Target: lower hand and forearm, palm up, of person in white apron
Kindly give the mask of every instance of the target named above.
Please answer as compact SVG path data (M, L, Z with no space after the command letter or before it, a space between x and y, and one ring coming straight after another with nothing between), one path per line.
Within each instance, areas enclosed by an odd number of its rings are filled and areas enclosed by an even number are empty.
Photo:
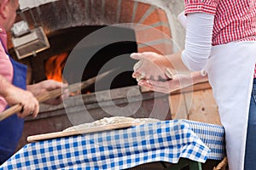
M149 90L170 94L181 88L189 87L195 83L207 82L207 75L202 76L201 72L192 72L191 74L179 74L172 77L169 81L154 81L142 79L138 85L148 88Z

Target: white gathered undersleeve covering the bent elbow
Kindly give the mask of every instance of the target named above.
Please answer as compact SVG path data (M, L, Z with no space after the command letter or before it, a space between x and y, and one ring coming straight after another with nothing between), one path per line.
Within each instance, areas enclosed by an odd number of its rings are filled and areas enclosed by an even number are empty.
M182 60L190 71L201 71L207 64L212 48L213 21L212 14L187 15L186 43Z

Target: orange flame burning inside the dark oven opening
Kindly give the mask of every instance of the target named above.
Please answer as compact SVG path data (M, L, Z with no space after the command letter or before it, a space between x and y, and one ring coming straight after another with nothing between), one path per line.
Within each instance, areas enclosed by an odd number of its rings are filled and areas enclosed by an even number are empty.
M68 53L57 54L45 61L44 71L47 79L63 82L62 71L66 64L67 55Z

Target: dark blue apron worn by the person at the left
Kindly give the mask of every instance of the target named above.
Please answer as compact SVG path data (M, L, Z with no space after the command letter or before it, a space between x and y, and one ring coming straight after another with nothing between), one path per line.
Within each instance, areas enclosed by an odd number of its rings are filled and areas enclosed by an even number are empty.
M8 54L7 50L5 51ZM26 89L26 65L16 62L11 57L9 59L14 67L13 84L16 87ZM19 118L16 114L0 122L0 165L15 153L23 125L24 119Z

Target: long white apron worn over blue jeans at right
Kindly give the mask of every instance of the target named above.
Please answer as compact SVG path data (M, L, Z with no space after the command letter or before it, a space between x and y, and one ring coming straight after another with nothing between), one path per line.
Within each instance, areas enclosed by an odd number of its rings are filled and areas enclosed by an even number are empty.
M230 170L244 165L247 119L256 63L256 42L230 42L212 47L207 74L225 129Z

